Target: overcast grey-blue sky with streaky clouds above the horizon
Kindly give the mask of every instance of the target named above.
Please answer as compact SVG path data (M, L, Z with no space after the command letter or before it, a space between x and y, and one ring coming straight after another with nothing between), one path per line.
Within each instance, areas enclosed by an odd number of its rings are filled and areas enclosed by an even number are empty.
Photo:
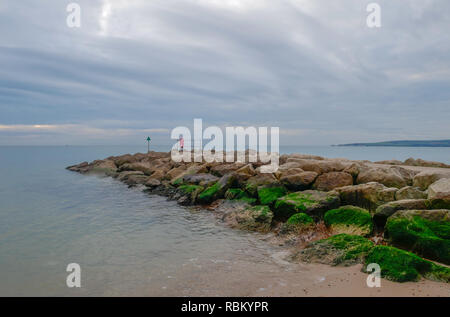
M280 144L450 138L450 2L0 1L0 145L173 143L177 126Z

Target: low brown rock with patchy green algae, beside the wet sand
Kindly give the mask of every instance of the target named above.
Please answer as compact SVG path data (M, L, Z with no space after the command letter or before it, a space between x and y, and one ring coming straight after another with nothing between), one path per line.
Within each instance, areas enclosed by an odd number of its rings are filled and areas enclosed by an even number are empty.
M298 257L305 262L348 266L362 263L373 246L364 237L342 233L310 243Z

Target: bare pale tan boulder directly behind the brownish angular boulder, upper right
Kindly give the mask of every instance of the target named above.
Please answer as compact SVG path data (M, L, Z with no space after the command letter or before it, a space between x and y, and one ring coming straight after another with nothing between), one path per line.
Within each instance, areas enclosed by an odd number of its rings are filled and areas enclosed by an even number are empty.
M372 167L361 171L356 178L357 184L377 182L387 187L402 188L410 185L412 176L407 170L398 166Z

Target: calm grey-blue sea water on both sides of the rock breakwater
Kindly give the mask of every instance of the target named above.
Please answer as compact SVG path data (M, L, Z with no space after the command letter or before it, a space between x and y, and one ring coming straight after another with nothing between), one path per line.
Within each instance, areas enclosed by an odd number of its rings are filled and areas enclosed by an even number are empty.
M180 272L193 272L186 267L198 272L205 263L265 261L277 251L256 234L224 227L207 212L64 169L143 150L0 147L1 296L145 295L148 289L163 290L169 280L173 285ZM282 152L450 163L449 148L285 147ZM80 289L66 287L66 266L73 262L82 269ZM188 295L184 287L180 294Z

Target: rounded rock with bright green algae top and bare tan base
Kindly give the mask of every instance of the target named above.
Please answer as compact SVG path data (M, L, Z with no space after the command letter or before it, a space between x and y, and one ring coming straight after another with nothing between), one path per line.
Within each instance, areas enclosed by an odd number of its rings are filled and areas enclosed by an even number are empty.
M343 206L325 213L324 222L333 233L347 233L368 236L372 233L373 222L370 213L363 208Z

